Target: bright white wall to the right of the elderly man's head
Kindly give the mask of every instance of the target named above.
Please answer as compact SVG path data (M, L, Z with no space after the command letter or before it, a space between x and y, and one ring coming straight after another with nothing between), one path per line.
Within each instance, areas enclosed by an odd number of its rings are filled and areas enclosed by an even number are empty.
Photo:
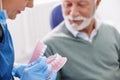
M120 0L101 0L98 14L102 20L113 24L120 31Z

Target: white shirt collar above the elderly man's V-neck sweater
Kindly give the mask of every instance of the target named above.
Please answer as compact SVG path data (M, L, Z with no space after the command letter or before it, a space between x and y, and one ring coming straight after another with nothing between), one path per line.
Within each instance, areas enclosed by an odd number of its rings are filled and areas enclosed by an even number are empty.
M73 34L74 37L79 37L86 41L92 42L94 36L97 34L100 24L101 24L101 21L95 18L95 29L92 31L90 37L85 32L78 32L77 30L74 30L70 26L66 26L66 28Z

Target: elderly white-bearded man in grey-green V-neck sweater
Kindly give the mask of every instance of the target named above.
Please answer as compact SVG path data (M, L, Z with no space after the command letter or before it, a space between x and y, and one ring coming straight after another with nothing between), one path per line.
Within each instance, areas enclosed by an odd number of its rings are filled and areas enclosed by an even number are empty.
M43 39L47 56L68 58L57 80L120 80L120 35L95 17L101 0L61 2L64 21Z

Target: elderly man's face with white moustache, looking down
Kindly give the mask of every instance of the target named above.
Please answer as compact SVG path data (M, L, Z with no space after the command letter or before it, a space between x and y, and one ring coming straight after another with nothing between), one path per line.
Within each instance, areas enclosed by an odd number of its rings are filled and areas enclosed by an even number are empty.
M63 16L72 25L81 25L90 23L96 9L95 0L62 0ZM88 26L85 25L85 26Z

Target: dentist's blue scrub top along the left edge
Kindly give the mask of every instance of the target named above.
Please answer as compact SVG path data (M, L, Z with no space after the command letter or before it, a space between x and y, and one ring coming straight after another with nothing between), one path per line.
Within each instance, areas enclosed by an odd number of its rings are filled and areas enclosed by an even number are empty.
M0 80L12 80L14 48L7 28L6 17L2 11L0 11L0 24L4 32L3 40L0 43Z

